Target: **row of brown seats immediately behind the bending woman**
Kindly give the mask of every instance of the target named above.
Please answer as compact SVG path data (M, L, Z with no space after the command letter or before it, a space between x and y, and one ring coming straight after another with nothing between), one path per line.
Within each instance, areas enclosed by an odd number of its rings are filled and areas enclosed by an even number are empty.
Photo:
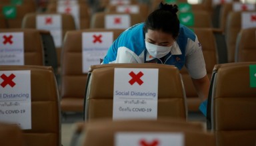
M249 29L251 30L251 29ZM238 43L240 47L239 56L241 56L239 61L254 61L253 52L255 52L255 43L247 43L247 39L244 35L255 41L254 31L242 31L243 35L241 38L241 43ZM207 65L207 74L211 78L211 70L215 64L223 63L219 60L219 52L221 50L221 42L217 42L217 33L213 29L194 29L197 34L201 45L203 46L203 54L205 57L205 62ZM46 65L53 66L55 73L57 74L57 60L56 52L53 43L53 38L49 34L49 31L36 31L35 29L15 29L15 30L1 30L2 33L7 32L24 32L25 33L25 65ZM99 33L99 32L113 32L113 40L119 36L123 30L114 29L87 29L84 31L68 31L65 36L65 41L63 48L57 48L59 50L59 58L61 58L61 70L59 70L60 75L57 76L60 88L61 96L61 107L63 112L65 111L83 111L83 98L85 96L85 82L87 80L87 73L83 72L83 56L82 56L82 34L83 33ZM247 32L247 33L245 33ZM208 37L205 37L208 36ZM43 38L43 39L42 39ZM35 43L31 43L35 42ZM43 44L43 45L41 45ZM251 48L245 48L245 44L250 45ZM107 48L107 47L106 47ZM35 53L31 53L31 51ZM43 50L44 49L44 50ZM61 53L62 51L62 53ZM251 57L249 56L251 55ZM244 57L242 57L244 56ZM37 60L35 60L36 58ZM243 59L245 58L245 59ZM44 60L44 62L43 62ZM75 66L73 64L76 64ZM201 99L197 97L197 93L193 88L193 83L191 78L185 68L181 70L181 74L184 80L185 91L187 95L187 103L189 111L198 111ZM61 77L61 79L60 79Z

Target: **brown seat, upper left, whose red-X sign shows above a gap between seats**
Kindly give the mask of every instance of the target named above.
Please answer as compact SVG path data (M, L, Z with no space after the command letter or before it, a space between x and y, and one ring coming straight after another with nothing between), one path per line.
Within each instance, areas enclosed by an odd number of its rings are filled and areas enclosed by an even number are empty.
M71 15L67 14L58 14L58 13L29 13L25 15L23 19L22 28L26 29L37 29L36 19L37 16L48 16L48 15L61 15L61 31L62 31L62 38L63 40L65 33L67 31L73 31L75 30L75 21ZM46 30L51 31L51 30ZM62 46L63 42L61 43ZM58 74L60 74L60 66L61 66L61 46L57 46L55 43L55 48L57 52L57 64L58 64Z

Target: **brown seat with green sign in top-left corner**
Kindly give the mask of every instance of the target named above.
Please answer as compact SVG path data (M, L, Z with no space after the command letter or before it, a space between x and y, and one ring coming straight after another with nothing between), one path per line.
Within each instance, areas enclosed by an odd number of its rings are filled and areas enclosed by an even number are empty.
M7 21L7 28L16 29L21 28L21 23L23 21L23 17L27 13L35 13L35 5L32 3L26 3L23 5L1 5L0 4L0 11L3 12L3 9L9 7L9 10L13 11L13 13L9 13L8 16L5 14L5 20ZM16 13L15 13L16 10ZM12 16L11 16L12 15ZM11 18L9 18L11 17Z

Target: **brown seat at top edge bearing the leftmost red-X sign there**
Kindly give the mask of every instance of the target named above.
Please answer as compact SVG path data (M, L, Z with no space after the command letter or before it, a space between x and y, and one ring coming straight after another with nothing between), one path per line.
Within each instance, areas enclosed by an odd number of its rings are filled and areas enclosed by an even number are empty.
M49 3L49 5L47 6L47 12L61 13L58 11L59 5L61 7L66 7L66 9L67 9L66 13L72 15L72 12L69 12L69 11L71 11L70 9L72 9L71 4L65 5L65 4L58 4L58 3ZM79 1L79 3L77 3L76 5L79 9L79 13L77 13L79 17L77 15L72 15L75 20L75 23L79 23L79 24L76 24L76 29L89 29L91 14L90 14L88 5L85 3L85 1ZM78 18L76 18L76 17L78 17Z

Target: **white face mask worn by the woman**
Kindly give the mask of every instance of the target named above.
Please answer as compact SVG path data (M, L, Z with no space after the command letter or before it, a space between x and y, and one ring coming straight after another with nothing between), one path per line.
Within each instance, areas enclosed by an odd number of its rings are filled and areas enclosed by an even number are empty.
M162 58L171 51L171 46L157 46L145 40L146 48L149 54L155 58Z

